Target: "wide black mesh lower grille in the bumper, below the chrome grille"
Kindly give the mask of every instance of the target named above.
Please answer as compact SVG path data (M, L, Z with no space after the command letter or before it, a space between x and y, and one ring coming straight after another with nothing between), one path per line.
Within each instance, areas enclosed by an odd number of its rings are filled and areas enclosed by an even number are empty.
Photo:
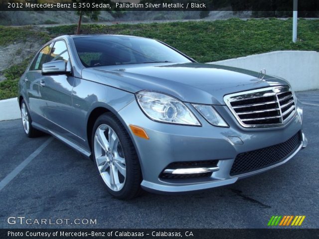
M290 153L294 152L300 145L300 142L301 134L298 132L283 143L240 153L234 160L230 175L244 174L279 163L285 160Z

